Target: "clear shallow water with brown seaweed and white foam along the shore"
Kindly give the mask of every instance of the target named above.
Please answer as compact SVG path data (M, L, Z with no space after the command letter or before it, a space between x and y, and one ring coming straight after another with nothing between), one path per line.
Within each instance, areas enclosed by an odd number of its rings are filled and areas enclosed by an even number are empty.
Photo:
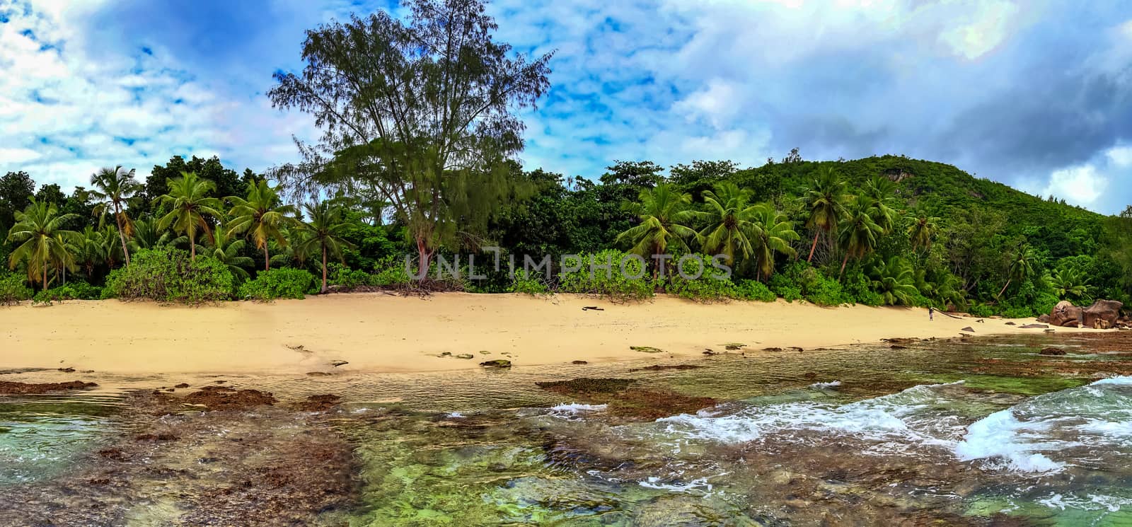
M1037 353L1050 344L1070 353ZM19 496L0 503L12 512L0 520L55 518L53 508L80 499L102 511L97 525L255 525L224 515L241 513L241 500L266 509L264 500L327 485L342 499L305 495L298 502L310 516L292 522L1130 525L1130 344L1123 334L1040 335L512 371L220 379L274 391L280 406L342 396L325 414L155 420L114 390L0 398L0 485ZM641 370L678 363L700 368ZM628 392L569 396L534 385L582 377L633 379L631 390L717 404L642 418L625 405ZM663 406L663 397L649 400ZM147 426L179 439L144 448L121 439ZM125 460L94 453L119 443L128 446ZM352 455L335 457L336 449ZM303 459L315 451L317 460ZM299 481L301 472L284 470L303 463L327 473ZM89 481L109 489L76 484Z

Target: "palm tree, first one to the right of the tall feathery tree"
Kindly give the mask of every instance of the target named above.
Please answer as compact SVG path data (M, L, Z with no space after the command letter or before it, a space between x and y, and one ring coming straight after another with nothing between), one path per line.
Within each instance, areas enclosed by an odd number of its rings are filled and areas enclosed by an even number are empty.
M641 218L641 223L618 234L618 243L632 243L633 249L629 251L645 258L666 253L670 243L677 249L691 251L685 240L698 236L694 230L685 226L694 217L694 213L687 209L692 202L691 195L678 193L671 185L662 183L653 189L642 190L637 199L641 202L632 204L628 208ZM655 266L652 274L655 278Z

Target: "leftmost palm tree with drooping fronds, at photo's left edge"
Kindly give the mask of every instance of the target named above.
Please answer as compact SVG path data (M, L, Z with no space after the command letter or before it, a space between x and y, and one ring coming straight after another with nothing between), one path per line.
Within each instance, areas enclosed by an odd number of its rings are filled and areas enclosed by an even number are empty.
M76 214L60 215L53 204L32 198L24 211L16 213L16 224L8 231L8 242L19 243L8 257L8 267L15 269L17 264L26 261L28 280L41 282L46 291L48 269L74 261L67 245L78 243L82 234L63 230L62 225L76 218Z

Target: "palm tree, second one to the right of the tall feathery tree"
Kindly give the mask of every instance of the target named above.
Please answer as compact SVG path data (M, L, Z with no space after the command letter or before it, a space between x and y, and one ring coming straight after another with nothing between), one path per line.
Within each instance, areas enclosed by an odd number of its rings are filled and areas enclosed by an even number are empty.
M755 213L755 206L748 202L751 192L724 181L715 185L714 192L705 190L703 197L707 210L693 215L707 224L698 234L703 250L726 256L728 265L735 262L736 254L751 258L754 254L751 245L754 225L751 219Z

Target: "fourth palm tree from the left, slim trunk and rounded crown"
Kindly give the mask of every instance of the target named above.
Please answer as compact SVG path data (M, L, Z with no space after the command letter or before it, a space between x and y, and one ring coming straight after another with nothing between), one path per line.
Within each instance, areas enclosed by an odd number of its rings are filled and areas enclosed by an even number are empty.
M280 245L286 245L282 227L293 222L288 215L297 214L294 206L283 205L276 189L267 185L267 180L248 183L247 199L230 196L228 200L232 202L229 228L233 233L247 232L256 249L264 251L264 270L271 270L272 258L267 251L267 241L274 239Z

